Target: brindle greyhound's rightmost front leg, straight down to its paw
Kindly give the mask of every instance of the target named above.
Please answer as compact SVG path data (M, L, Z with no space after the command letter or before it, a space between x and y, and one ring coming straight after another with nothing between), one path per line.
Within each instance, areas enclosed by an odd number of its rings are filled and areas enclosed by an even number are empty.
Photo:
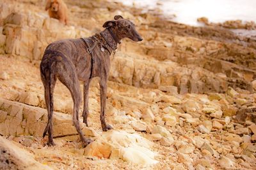
M106 124L106 96L107 96L107 78L101 78L100 80L100 122L102 131L108 131L113 129L111 125Z

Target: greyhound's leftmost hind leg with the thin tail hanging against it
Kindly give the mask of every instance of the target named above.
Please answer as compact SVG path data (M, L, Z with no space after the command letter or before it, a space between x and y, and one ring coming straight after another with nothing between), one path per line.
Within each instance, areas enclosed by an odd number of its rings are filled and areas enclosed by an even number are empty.
M45 97L45 105L47 108L47 113L48 113L48 121L47 125L44 130L43 137L45 137L47 131L48 131L48 141L47 145L48 146L54 146L53 142L53 134L52 134L52 115L53 115L53 90L54 86L56 84L56 76L49 70L46 69L42 71L41 69L41 78L44 84L44 97Z

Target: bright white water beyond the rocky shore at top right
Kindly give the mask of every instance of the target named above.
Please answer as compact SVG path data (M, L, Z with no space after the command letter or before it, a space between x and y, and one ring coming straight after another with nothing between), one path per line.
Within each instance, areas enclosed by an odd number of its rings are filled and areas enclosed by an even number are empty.
M209 22L244 20L256 22L256 0L115 0L128 6L159 8L164 16L175 22L198 25L197 18L207 17ZM173 14L176 15L173 18Z

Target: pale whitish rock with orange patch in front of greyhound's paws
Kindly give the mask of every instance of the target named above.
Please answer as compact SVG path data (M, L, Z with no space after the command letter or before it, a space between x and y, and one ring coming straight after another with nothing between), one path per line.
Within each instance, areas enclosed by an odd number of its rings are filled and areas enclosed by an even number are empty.
M147 139L124 131L108 131L84 149L84 155L117 159L133 164L156 164L156 153L149 150L152 144Z

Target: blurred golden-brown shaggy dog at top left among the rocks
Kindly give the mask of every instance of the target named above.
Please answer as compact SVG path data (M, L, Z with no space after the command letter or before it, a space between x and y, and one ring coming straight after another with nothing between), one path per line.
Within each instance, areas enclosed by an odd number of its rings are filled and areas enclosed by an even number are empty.
M45 11L49 10L49 16L68 24L68 8L62 0L47 0Z

